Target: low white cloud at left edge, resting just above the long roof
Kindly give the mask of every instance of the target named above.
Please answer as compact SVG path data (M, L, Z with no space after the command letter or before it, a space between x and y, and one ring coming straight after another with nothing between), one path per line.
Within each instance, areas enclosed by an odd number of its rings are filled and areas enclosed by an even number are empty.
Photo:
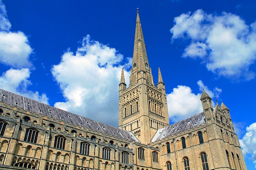
M39 95L38 91L30 91L27 86L31 85L29 81L30 72L28 68L9 69L0 76L0 87L4 90L16 93L36 101L48 104L46 94Z

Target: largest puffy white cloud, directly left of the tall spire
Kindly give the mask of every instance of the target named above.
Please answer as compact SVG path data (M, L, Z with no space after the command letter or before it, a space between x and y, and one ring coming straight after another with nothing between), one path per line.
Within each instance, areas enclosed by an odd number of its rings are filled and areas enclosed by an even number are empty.
M59 83L65 102L55 107L117 126L118 90L123 56L116 49L91 40L87 35L81 47L63 54L52 74ZM128 61L130 63L130 59ZM128 85L129 73L124 72Z

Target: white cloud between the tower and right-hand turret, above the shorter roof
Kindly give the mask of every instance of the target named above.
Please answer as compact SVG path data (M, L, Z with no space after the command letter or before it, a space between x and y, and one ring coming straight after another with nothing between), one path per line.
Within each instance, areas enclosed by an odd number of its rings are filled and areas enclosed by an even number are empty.
M209 90L208 87L203 84L202 80L198 80L197 85L200 91L204 89L210 97L218 97L222 92L222 90L217 87L213 90ZM176 122L202 112L201 95L201 93L193 93L188 86L178 85L170 94L167 94L169 119L172 122Z

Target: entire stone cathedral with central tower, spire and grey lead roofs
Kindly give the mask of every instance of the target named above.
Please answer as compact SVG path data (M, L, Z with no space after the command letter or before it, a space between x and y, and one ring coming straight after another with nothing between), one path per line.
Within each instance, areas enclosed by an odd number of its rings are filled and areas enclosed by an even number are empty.
M169 125L160 68L153 82L139 12L119 127L0 89L1 170L247 170L224 103L203 91L201 113Z

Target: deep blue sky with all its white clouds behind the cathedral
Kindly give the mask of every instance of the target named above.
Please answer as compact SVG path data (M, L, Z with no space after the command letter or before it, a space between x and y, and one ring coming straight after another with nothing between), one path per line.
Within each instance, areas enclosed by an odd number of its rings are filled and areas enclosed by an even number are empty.
M0 88L117 126L139 7L170 123L201 112L205 89L230 109L247 168L255 168L256 1L0 2Z

